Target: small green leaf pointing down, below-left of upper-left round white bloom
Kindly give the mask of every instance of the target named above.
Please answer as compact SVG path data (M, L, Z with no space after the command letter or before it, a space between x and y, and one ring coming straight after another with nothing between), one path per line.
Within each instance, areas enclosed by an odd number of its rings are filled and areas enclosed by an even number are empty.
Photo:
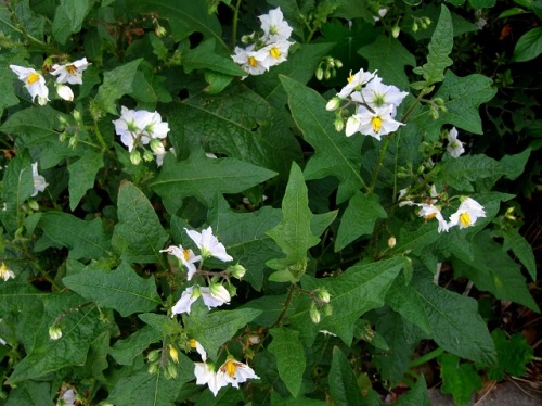
M94 186L98 172L103 167L103 155L98 151L87 151L75 163L68 165L69 173L69 208L76 210L87 190Z

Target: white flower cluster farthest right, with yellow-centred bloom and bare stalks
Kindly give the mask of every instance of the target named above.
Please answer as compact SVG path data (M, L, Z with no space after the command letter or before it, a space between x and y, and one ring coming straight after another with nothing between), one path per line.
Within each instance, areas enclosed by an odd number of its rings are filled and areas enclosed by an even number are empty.
M411 200L403 200L399 203L399 206L418 206L418 216L424 217L426 220L436 218L438 220L439 227L438 231L447 231L454 226L459 226L460 229L474 226L479 217L486 217L486 211L483 206L468 196L460 196L461 204L447 221L442 215L442 207L438 204L439 194L436 191L435 185L430 187L430 196L423 203L415 203ZM399 193L399 200L408 194L408 190L403 189Z

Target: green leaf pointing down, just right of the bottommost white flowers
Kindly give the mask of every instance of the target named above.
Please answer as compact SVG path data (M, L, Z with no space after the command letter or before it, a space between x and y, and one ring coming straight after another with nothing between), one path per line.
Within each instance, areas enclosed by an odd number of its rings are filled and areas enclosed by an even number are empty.
M305 372L305 351L298 340L299 332L280 327L269 330L273 341L268 350L276 358L279 376L294 397L299 395Z

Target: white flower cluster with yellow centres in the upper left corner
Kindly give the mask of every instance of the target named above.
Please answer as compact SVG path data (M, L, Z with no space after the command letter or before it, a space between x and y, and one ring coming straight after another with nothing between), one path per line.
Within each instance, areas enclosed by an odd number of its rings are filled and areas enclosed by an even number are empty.
M82 73L90 63L87 58L80 59L75 62L68 62L60 65L52 66L51 75L56 76L55 88L56 93L64 100L73 101L74 92L72 88L64 84L81 85ZM31 67L24 67L17 65L10 65L10 68L17 75L18 79L25 84L26 90L30 93L33 102L38 98L38 104L46 105L49 100L49 88L46 85L44 77Z

